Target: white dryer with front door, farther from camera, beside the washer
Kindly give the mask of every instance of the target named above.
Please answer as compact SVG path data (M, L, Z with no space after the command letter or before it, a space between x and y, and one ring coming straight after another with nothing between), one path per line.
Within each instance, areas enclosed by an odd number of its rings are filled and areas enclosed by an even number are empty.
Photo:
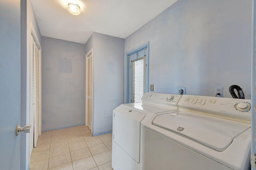
M155 113L177 111L181 95L145 93L142 103L118 106L113 111L112 168L141 170L142 120Z

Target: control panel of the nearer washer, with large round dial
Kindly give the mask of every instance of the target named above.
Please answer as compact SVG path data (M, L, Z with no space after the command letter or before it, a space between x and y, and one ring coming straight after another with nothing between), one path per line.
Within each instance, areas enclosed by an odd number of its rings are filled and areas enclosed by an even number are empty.
M178 107L180 110L195 111L246 123L250 123L251 118L251 100L249 99L182 95Z

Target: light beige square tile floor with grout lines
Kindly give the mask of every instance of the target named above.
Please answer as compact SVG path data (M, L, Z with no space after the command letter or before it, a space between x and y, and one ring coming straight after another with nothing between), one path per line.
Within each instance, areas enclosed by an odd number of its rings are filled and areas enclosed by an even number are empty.
M79 126L42 132L30 170L112 170L112 133L92 137Z

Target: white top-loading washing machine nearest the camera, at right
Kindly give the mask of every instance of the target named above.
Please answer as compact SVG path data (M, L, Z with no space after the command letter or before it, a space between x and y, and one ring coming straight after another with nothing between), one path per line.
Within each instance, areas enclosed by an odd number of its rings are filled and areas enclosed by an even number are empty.
M178 111L142 122L142 169L250 169L250 102L183 95Z

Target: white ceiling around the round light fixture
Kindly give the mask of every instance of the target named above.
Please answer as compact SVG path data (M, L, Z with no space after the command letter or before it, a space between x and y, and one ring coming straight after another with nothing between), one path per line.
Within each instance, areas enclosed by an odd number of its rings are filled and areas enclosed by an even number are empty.
M42 36L86 43L93 32L126 38L177 0L31 0ZM68 3L76 3L74 16Z

